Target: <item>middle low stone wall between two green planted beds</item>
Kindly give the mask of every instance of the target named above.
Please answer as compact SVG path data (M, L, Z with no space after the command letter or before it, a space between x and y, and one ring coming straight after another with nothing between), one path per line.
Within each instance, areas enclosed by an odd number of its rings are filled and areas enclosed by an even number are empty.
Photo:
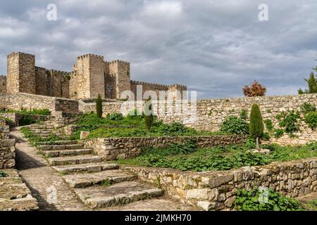
M119 158L135 158L142 148L147 146L167 147L170 143L184 143L194 139L200 148L213 146L228 146L240 144L246 139L246 135L223 136L159 136L159 137L128 137L90 139L83 141L86 148L92 148L104 160L118 160Z

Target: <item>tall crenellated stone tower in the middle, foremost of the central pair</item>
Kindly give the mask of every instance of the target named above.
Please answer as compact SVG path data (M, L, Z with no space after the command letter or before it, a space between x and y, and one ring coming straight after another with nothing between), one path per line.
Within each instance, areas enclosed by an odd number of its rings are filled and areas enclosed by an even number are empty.
M86 54L77 57L70 78L70 98L105 98L106 68L103 56Z

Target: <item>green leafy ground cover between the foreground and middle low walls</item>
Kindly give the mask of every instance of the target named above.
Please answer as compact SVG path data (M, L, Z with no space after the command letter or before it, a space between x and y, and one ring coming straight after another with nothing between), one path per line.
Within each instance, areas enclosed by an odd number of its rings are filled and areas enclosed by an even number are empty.
M317 157L317 142L302 147L262 146L271 150L270 155L252 153L254 143L244 145L197 148L194 143L173 144L168 148L145 148L133 159L120 159L117 163L145 167L166 167L182 171L228 170L244 166L267 165L275 161L290 161Z

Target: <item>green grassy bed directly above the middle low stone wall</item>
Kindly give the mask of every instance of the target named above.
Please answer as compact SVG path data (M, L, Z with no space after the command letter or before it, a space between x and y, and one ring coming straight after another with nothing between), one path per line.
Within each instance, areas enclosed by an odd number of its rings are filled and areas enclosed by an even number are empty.
M131 136L197 136L197 135L224 135L224 132L197 131L185 127L179 122L163 124L154 117L154 124L147 131L142 115L119 117L108 115L99 118L95 113L81 115L76 123L78 128L71 139L79 139L80 131L90 131L88 139L108 137L131 137Z

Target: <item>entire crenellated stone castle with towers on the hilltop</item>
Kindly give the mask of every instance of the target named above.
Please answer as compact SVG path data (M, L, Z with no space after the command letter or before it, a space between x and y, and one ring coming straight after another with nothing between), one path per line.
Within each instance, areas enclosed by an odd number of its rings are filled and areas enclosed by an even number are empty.
M120 99L123 91L186 91L180 84L164 85L137 82L130 79L130 63L122 60L107 62L104 56L78 56L73 72L48 70L35 65L35 56L13 52L7 56L7 75L0 76L0 93L28 93L61 98Z

